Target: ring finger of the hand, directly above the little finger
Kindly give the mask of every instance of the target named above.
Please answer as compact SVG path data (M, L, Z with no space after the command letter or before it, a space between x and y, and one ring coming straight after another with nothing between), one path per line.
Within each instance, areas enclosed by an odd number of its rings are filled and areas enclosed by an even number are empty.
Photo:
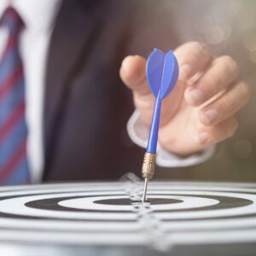
M238 82L230 87L224 95L202 108L199 118L203 125L216 125L228 119L250 99L251 91L244 82Z

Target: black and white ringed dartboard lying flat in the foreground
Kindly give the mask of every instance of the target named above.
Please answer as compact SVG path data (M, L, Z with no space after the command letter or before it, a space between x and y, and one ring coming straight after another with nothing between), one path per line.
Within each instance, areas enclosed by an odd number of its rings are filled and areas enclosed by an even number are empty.
M3 187L0 252L18 243L170 255L174 247L256 243L252 183L150 182L144 204L142 189L140 182Z

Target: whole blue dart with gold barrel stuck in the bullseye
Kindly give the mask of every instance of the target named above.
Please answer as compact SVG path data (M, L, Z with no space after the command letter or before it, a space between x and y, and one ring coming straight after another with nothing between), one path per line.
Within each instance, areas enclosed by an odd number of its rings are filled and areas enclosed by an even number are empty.
M160 49L154 49L148 56L146 74L148 86L154 95L155 103L148 137L148 146L143 160L142 173L145 179L143 202L146 201L148 179L154 176L161 102L172 92L177 83L178 64L172 50L169 50L165 54Z

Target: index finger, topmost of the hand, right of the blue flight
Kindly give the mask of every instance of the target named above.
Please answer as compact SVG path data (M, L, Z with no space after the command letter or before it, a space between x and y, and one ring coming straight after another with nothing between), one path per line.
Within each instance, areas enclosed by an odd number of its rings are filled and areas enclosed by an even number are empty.
M180 67L179 80L186 81L195 73L204 70L212 61L213 56L206 44L189 42L182 44L174 51Z

